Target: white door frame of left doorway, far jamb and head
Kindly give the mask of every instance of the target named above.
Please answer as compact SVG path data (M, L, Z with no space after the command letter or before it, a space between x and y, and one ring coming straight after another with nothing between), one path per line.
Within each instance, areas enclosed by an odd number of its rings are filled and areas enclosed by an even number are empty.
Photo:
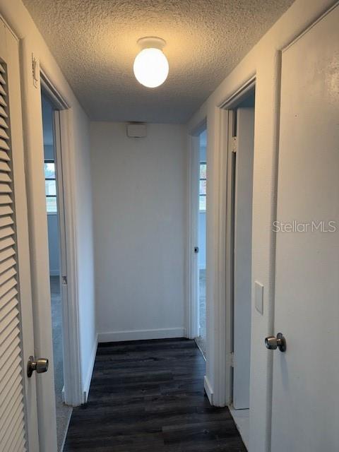
M64 403L78 406L84 402L81 390L81 355L78 296L76 290L76 234L73 206L73 158L69 147L69 105L40 68L41 89L54 110L54 152L57 167L60 270L66 277L62 290L62 326L64 354ZM67 162L67 165L63 165ZM61 211L62 210L62 211Z

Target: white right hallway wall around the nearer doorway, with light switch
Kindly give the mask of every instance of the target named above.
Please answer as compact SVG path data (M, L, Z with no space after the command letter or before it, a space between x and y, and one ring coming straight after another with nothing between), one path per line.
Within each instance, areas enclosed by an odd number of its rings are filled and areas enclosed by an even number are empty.
M220 387L218 362L225 353L225 287L224 281L215 275L222 273L225 249L220 247L220 231L225 227L223 204L225 202L225 174L220 172L225 154L220 145L222 112L218 108L256 76L256 114L254 138L254 199L253 199L253 248L252 285L255 280L264 285L263 315L254 309L252 287L251 330L251 396L250 439L251 452L270 450L270 406L272 354L266 350L263 340L274 332L274 262L275 239L272 222L275 219L275 194L278 162L278 113L280 90L280 51L326 8L331 0L297 0L273 25L266 35L225 78L208 100L191 118L187 129L193 133L207 117L208 129L208 218L207 218L207 323L208 352L207 378L210 391L217 405L225 404L225 388ZM224 263L222 263L224 262ZM221 271L220 271L221 269ZM225 268L224 268L225 270ZM222 276L221 279L224 277ZM219 278L220 279L220 278ZM224 309L222 308L224 306ZM224 331L224 333L222 333ZM227 333L227 332L226 332ZM223 335L222 335L223 334ZM221 346L220 346L221 344Z

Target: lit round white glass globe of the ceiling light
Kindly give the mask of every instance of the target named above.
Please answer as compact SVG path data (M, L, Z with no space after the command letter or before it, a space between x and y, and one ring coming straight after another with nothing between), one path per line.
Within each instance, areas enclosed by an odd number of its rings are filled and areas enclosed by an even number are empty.
M156 88L162 85L168 76L168 61L160 49L143 49L134 60L133 71L141 85Z

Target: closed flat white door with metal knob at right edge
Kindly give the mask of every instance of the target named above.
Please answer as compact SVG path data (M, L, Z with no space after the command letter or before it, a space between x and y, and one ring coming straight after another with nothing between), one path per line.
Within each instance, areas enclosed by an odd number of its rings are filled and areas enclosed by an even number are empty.
M338 24L336 7L283 52L277 219L301 232L277 232L273 452L339 451Z

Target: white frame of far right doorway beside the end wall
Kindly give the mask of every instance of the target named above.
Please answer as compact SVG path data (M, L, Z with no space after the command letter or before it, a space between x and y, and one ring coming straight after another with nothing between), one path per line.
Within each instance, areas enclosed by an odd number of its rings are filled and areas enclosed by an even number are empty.
M189 215L187 221L187 319L186 335L189 339L197 338L199 335L199 278L198 278L198 253L194 252L194 247L198 246L198 193L199 193L199 161L200 143L199 135L206 130L206 118L189 134L189 155L187 174L187 193ZM207 160L207 159L206 159ZM206 247L207 248L207 247Z

